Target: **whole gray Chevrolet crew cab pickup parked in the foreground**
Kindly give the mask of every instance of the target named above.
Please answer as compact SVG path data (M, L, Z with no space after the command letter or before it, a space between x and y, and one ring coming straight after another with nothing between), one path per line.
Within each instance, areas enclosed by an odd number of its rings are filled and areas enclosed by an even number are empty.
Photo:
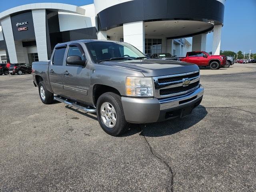
M97 113L112 136L123 134L130 123L187 116L204 93L197 65L148 59L125 42L57 44L50 61L33 62L32 73L44 104L57 100Z

